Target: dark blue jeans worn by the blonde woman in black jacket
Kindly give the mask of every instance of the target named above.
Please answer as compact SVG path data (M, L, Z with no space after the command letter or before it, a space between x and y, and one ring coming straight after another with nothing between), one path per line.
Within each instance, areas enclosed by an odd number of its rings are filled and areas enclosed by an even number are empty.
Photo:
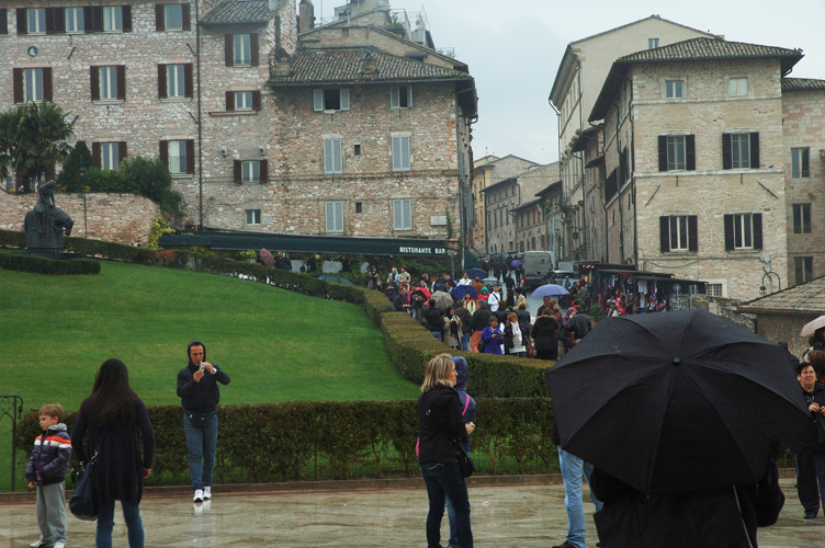
M470 499L467 483L461 475L459 461L432 460L420 463L421 476L430 499L427 514L427 547L441 546L441 518L444 517L444 502L449 496L455 510L455 528L461 548L473 548L473 532L470 528Z

